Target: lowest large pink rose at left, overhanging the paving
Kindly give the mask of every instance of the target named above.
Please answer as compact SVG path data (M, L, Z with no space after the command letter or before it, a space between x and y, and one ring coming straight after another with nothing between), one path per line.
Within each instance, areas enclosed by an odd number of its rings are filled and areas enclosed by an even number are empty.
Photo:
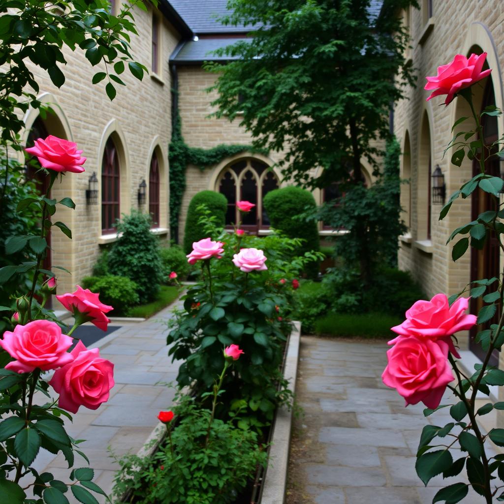
M77 413L79 406L97 409L108 401L114 386L114 365L102 359L98 348L87 350L79 341L71 352L74 360L57 369L49 385L59 394L58 406Z

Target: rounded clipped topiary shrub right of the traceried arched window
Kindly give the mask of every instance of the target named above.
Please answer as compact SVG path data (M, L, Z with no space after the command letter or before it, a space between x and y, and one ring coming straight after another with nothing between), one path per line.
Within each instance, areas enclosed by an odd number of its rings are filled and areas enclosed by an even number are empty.
M313 195L301 187L282 187L270 191L263 199L263 206L268 214L271 225L282 231L289 238L302 238L304 241L295 250L295 255L302 256L309 250L320 249L319 230L317 222L302 222L296 216L305 212L306 207L316 208ZM306 273L310 277L317 276L319 263L310 264Z

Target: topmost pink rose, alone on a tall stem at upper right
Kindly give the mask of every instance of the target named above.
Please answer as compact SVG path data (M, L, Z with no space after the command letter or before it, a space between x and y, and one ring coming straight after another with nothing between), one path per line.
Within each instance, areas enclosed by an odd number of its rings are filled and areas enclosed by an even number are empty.
M435 77L426 77L424 89L434 89L427 101L434 96L446 94L445 105L448 105L462 89L472 86L490 74L491 69L481 72L486 59L486 52L471 54L467 59L463 54L457 54L451 63L437 68Z

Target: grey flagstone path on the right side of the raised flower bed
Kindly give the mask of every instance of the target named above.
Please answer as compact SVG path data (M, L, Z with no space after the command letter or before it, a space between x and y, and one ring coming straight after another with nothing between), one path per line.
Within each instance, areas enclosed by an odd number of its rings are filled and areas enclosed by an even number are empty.
M382 384L385 342L303 336L287 504L430 504L440 487L459 478L415 472L422 427L453 421L447 410L426 419L423 404L404 407ZM453 402L448 395L446 402ZM472 489L462 504L482 498Z

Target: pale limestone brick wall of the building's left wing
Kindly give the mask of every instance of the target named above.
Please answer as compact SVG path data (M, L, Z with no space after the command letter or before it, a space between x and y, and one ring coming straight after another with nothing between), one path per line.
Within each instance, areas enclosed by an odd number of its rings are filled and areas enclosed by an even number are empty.
M152 9L147 13L136 9L135 22L140 36L132 35L133 57L151 68ZM59 229L52 228L52 264L62 266L72 273L68 275L55 270L58 276L58 291L74 289L84 276L91 274L100 251L101 232L101 161L105 143L113 135L121 163L120 212L129 213L138 205L138 187L145 179L149 187L149 167L156 152L160 165L160 227L168 228L168 143L171 137L171 96L168 56L180 36L165 19L160 24L161 63L158 76L144 75L142 82L134 78L129 70L120 76L126 86L115 85L117 96L111 102L105 93L106 80L98 85L91 84L95 72L104 71L104 65L91 67L84 54L65 50L66 67L61 70L67 80L56 88L47 74L33 68L40 85L40 95L46 102L54 104L55 115L45 120L49 134L63 136L77 143L87 157L85 173L70 173L62 184L55 184L52 196L60 199L71 197L75 211L58 209L53 221L68 224L73 233L69 240ZM27 131L37 117L30 110L25 117ZM89 177L96 172L99 180L97 205L87 205L85 191ZM148 211L147 204L141 208ZM167 234L163 235L167 238Z

